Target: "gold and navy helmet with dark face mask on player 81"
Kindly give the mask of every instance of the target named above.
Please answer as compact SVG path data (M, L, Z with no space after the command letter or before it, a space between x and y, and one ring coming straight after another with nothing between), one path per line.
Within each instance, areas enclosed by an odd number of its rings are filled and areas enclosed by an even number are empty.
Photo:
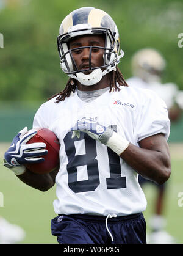
M85 20L83 20L83 16L85 17ZM96 24L97 19L98 24ZM98 27L93 25L98 25ZM104 35L104 47L91 45L81 46L74 49L69 48L70 40L87 35ZM83 48L90 49L90 57L88 60L89 67L81 70L76 65L73 52ZM120 57L123 57L124 54L121 54L121 56L118 55L120 49L119 34L117 26L112 18L106 12L92 7L77 9L66 16L60 26L60 35L57 37L57 49L59 51L60 67L63 72L71 78L79 80L79 82L83 82L83 79L82 81L78 79L79 73L86 73L86 71L91 71L91 73L93 73L93 70L98 69L102 70L102 76L104 76L106 73L115 70L116 65L120 61ZM103 64L98 67L92 67L91 65L93 49L102 49L104 51ZM99 73L99 76L102 77L101 71L95 71L96 75ZM80 76L82 75L80 74L79 77ZM89 76L90 74L88 75L88 82L87 84L85 83L85 85L92 85L93 82L98 81L98 79L92 78L91 82Z

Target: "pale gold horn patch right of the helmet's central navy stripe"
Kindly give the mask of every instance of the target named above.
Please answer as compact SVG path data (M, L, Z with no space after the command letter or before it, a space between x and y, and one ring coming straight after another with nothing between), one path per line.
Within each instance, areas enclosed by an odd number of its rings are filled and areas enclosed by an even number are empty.
M107 15L107 13L103 10L92 9L88 15L88 23L91 24L92 27L101 27L101 21L105 15Z

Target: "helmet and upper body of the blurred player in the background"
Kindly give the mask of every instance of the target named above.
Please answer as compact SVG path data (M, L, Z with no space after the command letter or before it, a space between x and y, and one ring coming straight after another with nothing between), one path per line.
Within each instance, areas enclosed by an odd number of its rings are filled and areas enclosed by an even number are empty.
M172 82L162 83L166 61L162 54L154 48L138 50L131 60L133 76L127 83L133 87L151 89L167 104L171 122L179 120L183 105L182 91Z

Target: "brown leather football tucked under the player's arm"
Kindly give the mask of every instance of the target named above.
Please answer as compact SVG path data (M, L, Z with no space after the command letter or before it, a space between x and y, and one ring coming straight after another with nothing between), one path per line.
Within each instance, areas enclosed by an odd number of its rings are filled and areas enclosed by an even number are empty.
M24 164L31 172L37 174L48 174L59 167L59 150L60 143L57 139L56 134L54 134L48 128L36 128L37 134L27 141L27 144L34 142L44 142L46 144L46 149L48 150L47 155L43 156L45 158L44 162L41 163L30 163Z

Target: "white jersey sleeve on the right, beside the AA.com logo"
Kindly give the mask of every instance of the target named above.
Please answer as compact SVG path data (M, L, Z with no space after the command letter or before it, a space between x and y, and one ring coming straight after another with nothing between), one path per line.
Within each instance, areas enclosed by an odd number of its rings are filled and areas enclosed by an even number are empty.
M170 135L170 120L165 102L154 92L144 90L145 101L137 121L137 141L158 133L163 133L168 140Z

